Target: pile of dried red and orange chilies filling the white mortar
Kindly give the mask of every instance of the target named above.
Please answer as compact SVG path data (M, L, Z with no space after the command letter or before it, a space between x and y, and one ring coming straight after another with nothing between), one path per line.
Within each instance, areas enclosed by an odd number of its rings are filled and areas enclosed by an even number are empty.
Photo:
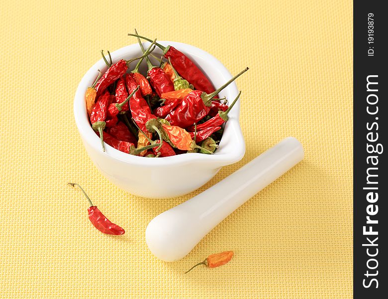
M206 75L173 46L137 34L143 55L113 63L101 51L108 69L99 73L86 92L86 107L92 128L104 143L120 151L166 157L186 152L212 154L222 137L223 124L241 92L230 106L216 98L218 93L248 70L241 71L215 89ZM144 49L140 38L151 43ZM151 53L158 46L168 61ZM151 55L150 55L151 54ZM155 66L149 56L157 58ZM129 64L139 60L133 70ZM139 72L141 62L148 66ZM156 60L155 60L156 61Z

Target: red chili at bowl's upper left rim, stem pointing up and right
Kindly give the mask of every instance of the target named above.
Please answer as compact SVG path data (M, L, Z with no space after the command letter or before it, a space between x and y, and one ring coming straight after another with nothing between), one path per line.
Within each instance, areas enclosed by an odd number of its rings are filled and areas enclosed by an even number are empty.
M146 57L153 51L153 49L151 49L148 52L144 52L142 56L134 59L130 59L130 60L120 59L115 64L110 66L106 70L106 72L102 75L102 77L97 81L97 84L96 84L97 96L99 96L110 84L114 83L117 79L122 77L126 73L128 69L128 65L132 61L141 59L142 57Z

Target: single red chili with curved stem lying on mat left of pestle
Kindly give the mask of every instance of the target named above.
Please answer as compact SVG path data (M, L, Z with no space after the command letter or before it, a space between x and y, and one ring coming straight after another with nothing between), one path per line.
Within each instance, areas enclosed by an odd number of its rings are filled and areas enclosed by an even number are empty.
M84 193L86 198L89 201L90 207L88 208L88 216L89 220L92 224L101 232L108 235L121 236L125 233L124 229L110 222L97 208L97 206L93 205L91 199L88 194L86 194L85 190L77 183L69 183L69 185L75 187L78 186L81 191Z

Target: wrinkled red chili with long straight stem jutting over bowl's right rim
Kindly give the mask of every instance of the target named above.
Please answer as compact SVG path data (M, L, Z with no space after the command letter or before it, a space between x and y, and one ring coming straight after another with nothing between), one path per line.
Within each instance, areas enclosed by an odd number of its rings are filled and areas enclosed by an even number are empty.
M226 86L245 73L249 68L244 69L216 91L211 94L194 90L188 94L178 106L166 116L166 120L172 126L187 128L204 118L210 111L211 100Z

